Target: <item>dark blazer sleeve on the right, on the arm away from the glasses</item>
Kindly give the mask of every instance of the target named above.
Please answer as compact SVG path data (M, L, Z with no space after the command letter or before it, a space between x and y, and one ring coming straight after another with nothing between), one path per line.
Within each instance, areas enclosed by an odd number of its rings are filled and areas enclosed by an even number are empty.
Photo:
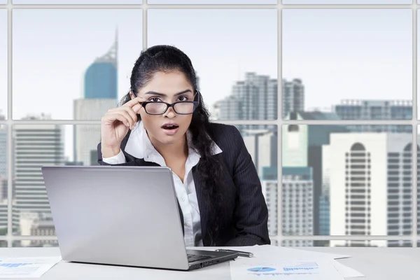
M268 209L251 155L239 130L233 127L235 164L233 181L237 187L234 223L237 236L225 246L253 246L271 244L268 234Z

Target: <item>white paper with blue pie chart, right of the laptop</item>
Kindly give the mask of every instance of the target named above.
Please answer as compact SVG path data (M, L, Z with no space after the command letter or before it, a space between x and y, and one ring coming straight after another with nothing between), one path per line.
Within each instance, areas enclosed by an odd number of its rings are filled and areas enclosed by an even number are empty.
M269 279L289 280L343 280L337 269L327 259L291 260L284 262L258 262L258 260L238 258L230 262L232 280Z

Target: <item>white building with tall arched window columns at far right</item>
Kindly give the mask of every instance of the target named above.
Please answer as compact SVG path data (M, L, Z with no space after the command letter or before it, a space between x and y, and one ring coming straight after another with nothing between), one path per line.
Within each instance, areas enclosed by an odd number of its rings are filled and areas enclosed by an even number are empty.
M412 134L335 133L330 161L330 235L412 234ZM406 241L331 241L405 246Z

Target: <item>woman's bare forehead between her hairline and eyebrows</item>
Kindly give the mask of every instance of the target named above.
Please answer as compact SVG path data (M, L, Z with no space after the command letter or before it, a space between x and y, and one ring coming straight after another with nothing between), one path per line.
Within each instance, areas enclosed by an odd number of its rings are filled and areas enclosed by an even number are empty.
M193 86L184 73L179 71L156 72L150 82L140 90L140 93L154 91L172 95L188 89L193 91ZM193 94L193 92L191 93Z

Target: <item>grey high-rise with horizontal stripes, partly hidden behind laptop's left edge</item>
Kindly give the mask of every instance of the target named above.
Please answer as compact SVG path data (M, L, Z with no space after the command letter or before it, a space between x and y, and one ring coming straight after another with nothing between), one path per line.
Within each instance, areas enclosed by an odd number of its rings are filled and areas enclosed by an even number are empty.
M24 119L51 119L28 116ZM50 216L50 205L43 183L41 166L63 165L64 128L62 125L18 125L15 139L15 197L20 212Z

